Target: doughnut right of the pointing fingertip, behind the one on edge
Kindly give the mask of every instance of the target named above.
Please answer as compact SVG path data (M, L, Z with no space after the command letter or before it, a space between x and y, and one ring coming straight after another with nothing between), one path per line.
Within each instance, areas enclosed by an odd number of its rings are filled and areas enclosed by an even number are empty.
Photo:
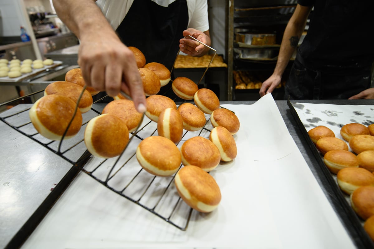
M147 116L152 121L156 122L159 120L160 113L166 108L173 108L177 110L177 105L175 102L163 95L151 95L146 99L147 110L145 111L145 116Z

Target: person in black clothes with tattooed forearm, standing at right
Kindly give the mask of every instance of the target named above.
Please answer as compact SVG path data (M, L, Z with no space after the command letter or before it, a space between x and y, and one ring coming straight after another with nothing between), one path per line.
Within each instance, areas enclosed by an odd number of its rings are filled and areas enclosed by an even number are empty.
M373 1L298 0L283 34L273 74L263 82L260 96L281 83L286 66L298 46L312 8L309 29L297 51L285 98L374 98L371 69L374 46Z

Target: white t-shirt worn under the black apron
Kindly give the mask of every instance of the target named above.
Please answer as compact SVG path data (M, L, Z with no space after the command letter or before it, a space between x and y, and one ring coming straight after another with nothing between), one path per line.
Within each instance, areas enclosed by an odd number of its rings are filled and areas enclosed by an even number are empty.
M129 11L134 0L98 0L96 4L102 10L114 30L121 24ZM175 0L151 0L160 6L168 6ZM206 0L186 0L188 7L188 28L195 28L200 31L209 30L208 3Z

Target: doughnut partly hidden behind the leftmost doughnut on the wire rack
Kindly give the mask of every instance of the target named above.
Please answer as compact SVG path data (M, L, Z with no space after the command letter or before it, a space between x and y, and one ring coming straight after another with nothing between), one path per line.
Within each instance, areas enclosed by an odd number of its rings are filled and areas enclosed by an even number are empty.
M74 101L74 103L77 103L78 98L80 94L83 91L83 87L71 82L67 81L56 81L53 83L50 83L47 85L46 89L44 90L44 95L49 94L58 94L58 95L64 95L71 100ZM85 90L83 92L82 98L79 101L78 107L80 112L85 113L88 112L92 107L92 95Z

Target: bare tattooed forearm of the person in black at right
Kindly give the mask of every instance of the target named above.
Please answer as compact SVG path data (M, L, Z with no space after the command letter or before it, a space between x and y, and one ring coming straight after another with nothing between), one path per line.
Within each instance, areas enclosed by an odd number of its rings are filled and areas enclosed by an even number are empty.
M281 48L279 50L277 64L273 73L274 75L283 75L292 54L294 54L295 49L297 49L298 42L306 25L307 16L310 12L310 9L305 9L306 7L303 8L304 9L301 10L300 6L296 8L294 15L292 15L286 26Z

